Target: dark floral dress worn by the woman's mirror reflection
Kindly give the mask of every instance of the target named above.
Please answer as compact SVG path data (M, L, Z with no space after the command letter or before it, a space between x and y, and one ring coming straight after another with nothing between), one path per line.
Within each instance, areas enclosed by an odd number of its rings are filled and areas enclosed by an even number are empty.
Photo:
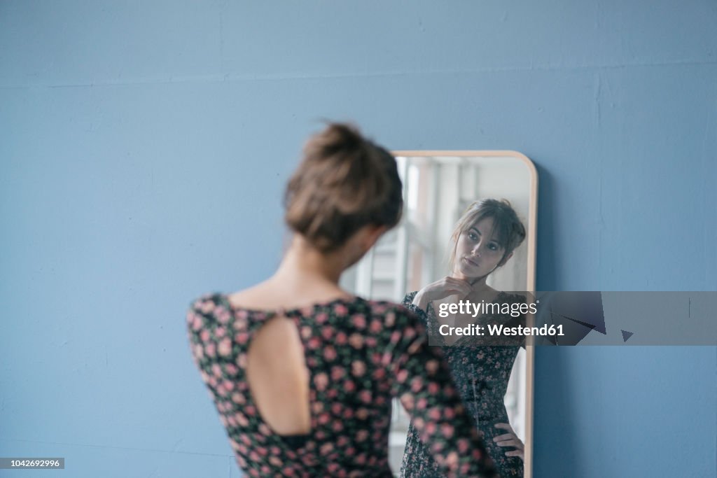
M406 295L403 305L416 312L427 324L431 340L442 341L438 333L439 322L432 305L428 305L427 312L412 305L417 292ZM522 295L500 292L495 302L513 303L525 302ZM525 317L510 317L507 315L483 315L478 323L505 323L513 326L523 323ZM503 429L496 429L495 424L508 423L508 412L505 410L503 399L508 388L508 379L511 377L513 362L516 360L518 349L524 345L521 338L515 338L513 343L505 343L500 339L501 345L490 343L489 338L472 338L463 336L452 345L442 342L440 348L450 365L453 379L460 391L465 405L473 419L478 423L478 429L483 432L488 453L493 458L500 477L522 477L523 460L519 457L506 457L505 451L510 447L501 447L495 444L493 436L505 434ZM445 474L436 466L429 449L420 441L420 432L412 420L406 448L404 450L401 476L404 478L442 478Z

